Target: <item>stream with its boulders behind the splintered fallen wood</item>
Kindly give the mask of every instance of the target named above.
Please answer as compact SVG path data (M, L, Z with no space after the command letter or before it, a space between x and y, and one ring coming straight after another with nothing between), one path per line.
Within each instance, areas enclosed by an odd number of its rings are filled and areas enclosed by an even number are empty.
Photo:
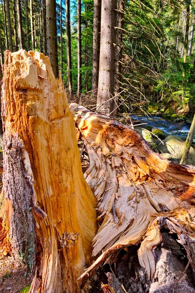
M154 151L169 161L179 163L190 123L169 120L162 116L131 115L135 129L143 136ZM157 138L158 137L158 138ZM195 139L194 139L195 143ZM195 145L194 145L195 146ZM195 148L192 146L187 161L195 166Z

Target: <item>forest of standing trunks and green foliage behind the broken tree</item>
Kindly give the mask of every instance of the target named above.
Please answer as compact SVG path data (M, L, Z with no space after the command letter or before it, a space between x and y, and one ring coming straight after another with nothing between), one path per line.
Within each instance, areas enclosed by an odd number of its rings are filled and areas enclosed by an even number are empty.
M194 22L190 0L1 0L1 68L6 49L38 50L77 102L95 107L98 89L104 112L176 118L194 111ZM103 97L102 78L109 80Z

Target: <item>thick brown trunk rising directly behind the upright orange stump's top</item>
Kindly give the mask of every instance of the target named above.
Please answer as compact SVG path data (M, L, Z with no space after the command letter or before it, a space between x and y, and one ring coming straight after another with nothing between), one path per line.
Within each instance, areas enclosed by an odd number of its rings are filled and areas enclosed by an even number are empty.
M47 25L47 53L52 64L55 77L59 76L56 0L46 0L46 25Z

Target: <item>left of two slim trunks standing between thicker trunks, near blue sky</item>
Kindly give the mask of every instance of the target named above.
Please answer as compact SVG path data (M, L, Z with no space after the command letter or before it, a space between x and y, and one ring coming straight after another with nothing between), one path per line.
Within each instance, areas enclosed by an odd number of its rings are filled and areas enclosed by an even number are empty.
M70 0L66 0L66 55L67 83L69 94L72 93L72 62L71 62L71 33L70 33Z

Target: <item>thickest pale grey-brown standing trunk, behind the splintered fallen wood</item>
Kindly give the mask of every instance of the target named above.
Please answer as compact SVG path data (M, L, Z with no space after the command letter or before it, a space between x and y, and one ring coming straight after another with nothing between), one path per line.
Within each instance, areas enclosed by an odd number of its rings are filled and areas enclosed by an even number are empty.
M102 111L104 114L109 114L114 105L112 97L115 81L116 9L117 0L107 0L101 3L97 111Z

